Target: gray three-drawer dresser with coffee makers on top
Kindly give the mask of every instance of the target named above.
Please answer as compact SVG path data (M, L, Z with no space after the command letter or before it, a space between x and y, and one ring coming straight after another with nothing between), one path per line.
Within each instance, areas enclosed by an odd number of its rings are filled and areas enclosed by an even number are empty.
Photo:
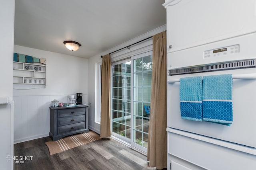
M88 106L50 107L50 137L53 141L76 133L87 133Z

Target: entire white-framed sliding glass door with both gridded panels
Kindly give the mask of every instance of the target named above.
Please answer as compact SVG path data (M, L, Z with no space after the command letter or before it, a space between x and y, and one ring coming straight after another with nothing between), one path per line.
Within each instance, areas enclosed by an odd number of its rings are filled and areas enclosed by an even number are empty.
M112 64L112 135L144 152L152 80L152 51Z

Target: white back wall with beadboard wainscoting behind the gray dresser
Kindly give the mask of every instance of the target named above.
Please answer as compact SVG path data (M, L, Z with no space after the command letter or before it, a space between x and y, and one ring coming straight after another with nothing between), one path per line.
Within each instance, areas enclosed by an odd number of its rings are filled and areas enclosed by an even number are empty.
M67 96L83 94L88 104L88 59L14 45L14 53L46 59L46 87L13 89L14 143L49 135L50 102L68 102Z

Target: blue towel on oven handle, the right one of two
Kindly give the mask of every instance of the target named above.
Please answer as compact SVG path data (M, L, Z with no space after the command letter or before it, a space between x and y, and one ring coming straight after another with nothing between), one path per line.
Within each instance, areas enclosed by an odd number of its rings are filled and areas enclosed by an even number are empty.
M203 77L203 120L228 125L233 121L232 74Z

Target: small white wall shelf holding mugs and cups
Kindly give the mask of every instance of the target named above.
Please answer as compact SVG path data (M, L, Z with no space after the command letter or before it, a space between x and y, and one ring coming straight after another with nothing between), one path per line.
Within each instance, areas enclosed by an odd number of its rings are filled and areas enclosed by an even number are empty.
M27 89L44 86L46 86L45 64L13 62L13 88Z

